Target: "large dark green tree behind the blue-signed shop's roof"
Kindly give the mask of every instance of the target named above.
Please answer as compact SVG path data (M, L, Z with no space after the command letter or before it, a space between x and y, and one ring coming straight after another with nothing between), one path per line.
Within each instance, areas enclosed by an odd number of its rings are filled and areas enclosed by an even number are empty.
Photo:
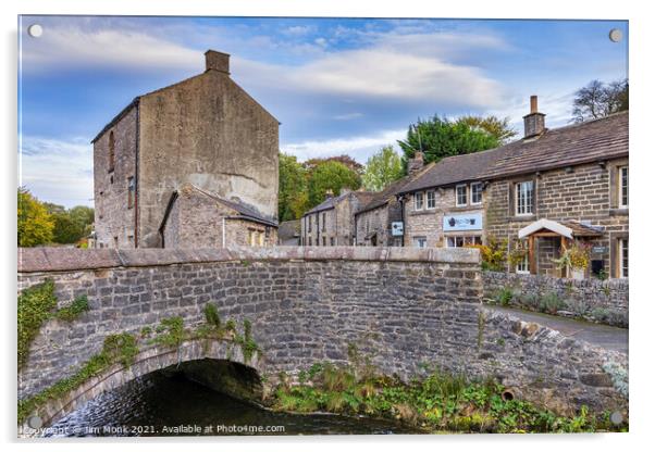
M468 154L497 148L500 140L481 127L471 127L466 122L452 122L434 115L419 120L407 130L407 138L398 141L404 153L404 165L417 151L424 153L425 163L438 162L445 156Z

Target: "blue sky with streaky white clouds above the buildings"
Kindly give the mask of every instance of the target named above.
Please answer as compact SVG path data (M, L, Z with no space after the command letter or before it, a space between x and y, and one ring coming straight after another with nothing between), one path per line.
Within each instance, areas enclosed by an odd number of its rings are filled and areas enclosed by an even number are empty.
M232 55L232 78L282 123L280 148L300 161L347 153L366 163L435 114L507 116L520 136L531 95L546 126L563 126L577 89L628 77L626 21L22 16L18 25L18 185L67 208L92 205L96 134L136 96L203 72L208 49Z

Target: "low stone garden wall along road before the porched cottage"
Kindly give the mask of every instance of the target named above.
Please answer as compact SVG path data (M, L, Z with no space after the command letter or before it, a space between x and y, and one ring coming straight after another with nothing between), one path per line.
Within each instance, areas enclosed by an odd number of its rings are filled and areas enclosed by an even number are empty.
M503 289L512 290L509 304L539 310L539 298L557 294L561 315L588 318L608 325L628 327L628 279L567 279L545 275L483 272L484 297L494 300Z

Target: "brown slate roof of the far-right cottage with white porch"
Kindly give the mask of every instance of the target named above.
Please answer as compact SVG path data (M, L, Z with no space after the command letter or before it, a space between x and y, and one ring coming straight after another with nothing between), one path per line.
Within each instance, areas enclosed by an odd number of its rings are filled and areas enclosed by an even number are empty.
M493 179L628 155L628 112L548 129L535 139L518 140L481 178Z

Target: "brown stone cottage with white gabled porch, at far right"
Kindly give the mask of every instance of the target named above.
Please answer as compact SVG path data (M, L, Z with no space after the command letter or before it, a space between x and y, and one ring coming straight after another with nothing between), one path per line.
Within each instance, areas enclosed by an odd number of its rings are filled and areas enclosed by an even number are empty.
M533 97L524 138L481 176L486 234L529 251L511 272L565 276L554 260L578 243L585 276L627 278L628 112L556 129L544 116Z

